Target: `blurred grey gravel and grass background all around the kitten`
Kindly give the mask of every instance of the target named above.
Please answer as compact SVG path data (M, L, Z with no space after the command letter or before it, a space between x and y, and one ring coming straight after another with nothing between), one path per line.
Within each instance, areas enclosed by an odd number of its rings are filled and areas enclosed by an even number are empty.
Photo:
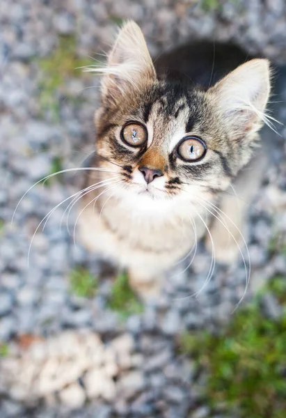
M33 186L93 152L99 82L79 67L104 61L125 19L153 57L205 39L276 66L281 125L249 206L251 285L235 313L242 259L191 297L211 263L201 244L143 305L125 274L74 245L65 199L82 173ZM285 63L284 0L0 0L1 418L286 417Z

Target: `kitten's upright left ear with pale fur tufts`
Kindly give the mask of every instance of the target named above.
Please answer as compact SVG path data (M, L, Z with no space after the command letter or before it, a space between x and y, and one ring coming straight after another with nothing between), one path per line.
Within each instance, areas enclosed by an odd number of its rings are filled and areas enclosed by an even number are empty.
M112 102L156 79L143 33L135 22L127 22L120 29L103 72L102 99Z

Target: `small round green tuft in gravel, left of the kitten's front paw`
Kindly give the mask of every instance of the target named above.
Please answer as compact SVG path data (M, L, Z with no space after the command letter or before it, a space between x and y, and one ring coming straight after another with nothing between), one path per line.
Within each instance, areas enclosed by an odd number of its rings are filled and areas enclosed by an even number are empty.
M93 297L97 292L98 279L82 267L70 274L70 291L80 297Z

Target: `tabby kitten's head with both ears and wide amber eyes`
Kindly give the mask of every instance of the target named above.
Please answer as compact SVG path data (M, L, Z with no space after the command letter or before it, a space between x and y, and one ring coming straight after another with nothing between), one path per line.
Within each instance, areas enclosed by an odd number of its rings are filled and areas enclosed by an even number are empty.
M116 194L207 199L251 157L269 98L269 63L253 59L202 91L158 79L141 29L120 30L102 78L97 153ZM105 174L112 177L114 173Z

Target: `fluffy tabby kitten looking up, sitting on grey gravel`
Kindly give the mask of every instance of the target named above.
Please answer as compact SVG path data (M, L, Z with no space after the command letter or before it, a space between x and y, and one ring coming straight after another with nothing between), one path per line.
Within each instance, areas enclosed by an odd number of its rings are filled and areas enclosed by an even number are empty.
M104 77L95 170L79 217L86 247L127 268L144 298L157 295L166 270L207 231L216 260L232 263L242 202L259 183L251 169L239 171L267 122L269 62L248 61L210 88L168 79L157 75L141 29L127 22L106 68L88 70ZM241 199L224 193L230 183Z

